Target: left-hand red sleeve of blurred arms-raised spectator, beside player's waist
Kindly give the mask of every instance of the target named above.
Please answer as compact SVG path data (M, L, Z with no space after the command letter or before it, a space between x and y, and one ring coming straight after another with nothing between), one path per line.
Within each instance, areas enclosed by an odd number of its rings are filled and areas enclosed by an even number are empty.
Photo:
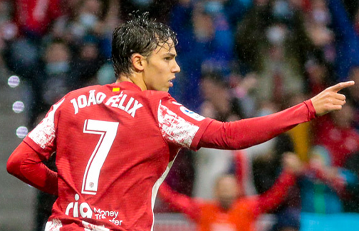
M199 222L200 219L200 205L199 202L188 197L187 195L182 195L175 192L168 186L166 183L162 183L158 193L161 199L167 202L170 207L173 209L184 213L190 219L195 222Z

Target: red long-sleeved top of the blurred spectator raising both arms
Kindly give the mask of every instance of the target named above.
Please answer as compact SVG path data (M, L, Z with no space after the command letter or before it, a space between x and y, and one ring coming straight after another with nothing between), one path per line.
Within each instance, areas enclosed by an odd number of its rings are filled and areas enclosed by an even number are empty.
M240 197L228 211L223 210L218 202L198 200L176 193L165 183L161 185L159 193L170 207L194 220L198 231L254 231L259 215L278 207L294 183L294 175L282 173L266 193Z

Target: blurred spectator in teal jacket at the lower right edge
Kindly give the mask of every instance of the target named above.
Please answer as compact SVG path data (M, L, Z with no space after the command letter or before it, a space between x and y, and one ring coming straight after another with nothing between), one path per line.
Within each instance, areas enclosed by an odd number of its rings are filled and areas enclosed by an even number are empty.
M350 188L358 188L355 173L332 165L331 154L323 146L311 150L308 169L298 178L301 211L321 214L344 212L343 202L350 198Z

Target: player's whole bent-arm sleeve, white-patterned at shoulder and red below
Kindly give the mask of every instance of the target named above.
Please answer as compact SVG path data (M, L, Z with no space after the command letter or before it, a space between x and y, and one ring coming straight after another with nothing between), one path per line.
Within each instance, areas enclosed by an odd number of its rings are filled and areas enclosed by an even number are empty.
M24 138L7 161L6 169L11 175L32 185L38 190L57 195L57 173L42 162L56 151L55 120L58 107L65 101L52 106L46 117Z

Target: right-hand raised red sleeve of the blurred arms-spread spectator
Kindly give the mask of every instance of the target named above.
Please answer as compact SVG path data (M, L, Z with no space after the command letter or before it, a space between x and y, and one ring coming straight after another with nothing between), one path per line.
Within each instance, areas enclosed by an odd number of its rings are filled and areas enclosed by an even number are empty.
M286 198L289 188L291 188L295 182L295 175L286 172L281 173L272 188L267 190L266 193L259 195L259 214L269 212L278 207Z

